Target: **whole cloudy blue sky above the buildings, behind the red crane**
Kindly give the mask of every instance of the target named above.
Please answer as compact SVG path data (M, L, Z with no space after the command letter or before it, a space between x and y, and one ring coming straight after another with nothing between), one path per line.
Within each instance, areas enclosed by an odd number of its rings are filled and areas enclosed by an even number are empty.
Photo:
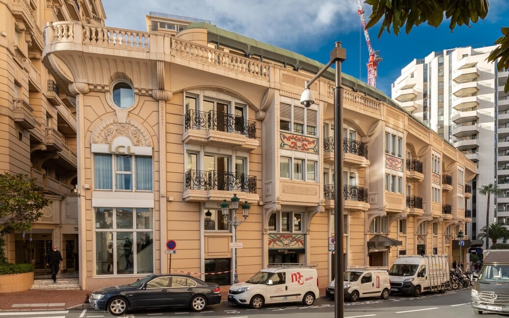
M384 33L378 39L379 26L372 27L371 42L380 50L383 61L378 67L377 88L390 97L390 85L401 69L414 58L432 51L455 47L493 45L501 36L500 27L509 26L509 2L490 0L488 16L471 27L456 27L448 21L436 29L428 25L414 27L410 35L398 37ZM335 41L347 49L343 72L367 81L369 58L355 0L103 0L106 25L146 30L145 15L150 11L211 20L218 27L234 31L275 46L286 48L327 63ZM370 6L364 4L366 21Z

